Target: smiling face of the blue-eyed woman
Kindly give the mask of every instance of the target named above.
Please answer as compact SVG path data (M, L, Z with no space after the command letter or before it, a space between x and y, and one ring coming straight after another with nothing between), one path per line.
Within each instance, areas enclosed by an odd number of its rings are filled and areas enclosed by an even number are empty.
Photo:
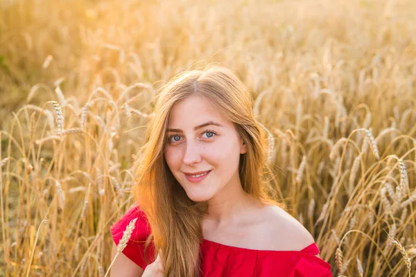
M173 107L167 143L166 163L191 200L207 201L225 186L241 186L239 159L246 145L209 100L191 96Z

